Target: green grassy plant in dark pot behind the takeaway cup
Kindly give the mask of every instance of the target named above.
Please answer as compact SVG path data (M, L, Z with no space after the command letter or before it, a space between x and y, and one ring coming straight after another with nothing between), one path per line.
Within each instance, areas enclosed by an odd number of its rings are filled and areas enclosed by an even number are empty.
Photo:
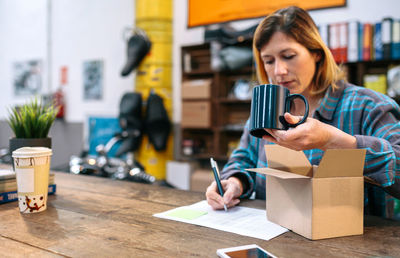
M58 107L34 98L22 106L12 107L7 119L15 137L10 139L10 154L21 147L51 148L48 137L50 127L56 119Z

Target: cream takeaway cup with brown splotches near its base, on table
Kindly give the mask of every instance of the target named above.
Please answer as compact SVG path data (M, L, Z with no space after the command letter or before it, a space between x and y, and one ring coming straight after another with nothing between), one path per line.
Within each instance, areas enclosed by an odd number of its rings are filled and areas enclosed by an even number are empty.
M23 147L13 151L21 213L47 209L51 155L51 149L45 147Z

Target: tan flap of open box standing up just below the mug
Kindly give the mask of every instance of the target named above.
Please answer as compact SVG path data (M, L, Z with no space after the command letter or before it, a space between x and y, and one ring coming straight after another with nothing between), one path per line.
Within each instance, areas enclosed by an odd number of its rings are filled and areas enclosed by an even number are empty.
M268 168L283 170L303 176L312 176L312 166L302 151L279 145L265 145Z

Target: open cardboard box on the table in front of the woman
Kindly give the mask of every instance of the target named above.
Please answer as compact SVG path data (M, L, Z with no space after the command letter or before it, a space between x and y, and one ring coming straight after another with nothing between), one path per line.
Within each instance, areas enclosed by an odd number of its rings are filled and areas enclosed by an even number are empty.
M312 166L302 151L266 145L268 220L309 239L363 234L365 150L327 150Z

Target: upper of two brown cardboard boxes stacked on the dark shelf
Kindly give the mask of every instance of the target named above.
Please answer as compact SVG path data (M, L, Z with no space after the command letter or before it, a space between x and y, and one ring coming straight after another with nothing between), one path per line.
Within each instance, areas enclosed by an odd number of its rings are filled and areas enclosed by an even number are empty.
M211 97L211 79L182 82L182 99L208 99Z

